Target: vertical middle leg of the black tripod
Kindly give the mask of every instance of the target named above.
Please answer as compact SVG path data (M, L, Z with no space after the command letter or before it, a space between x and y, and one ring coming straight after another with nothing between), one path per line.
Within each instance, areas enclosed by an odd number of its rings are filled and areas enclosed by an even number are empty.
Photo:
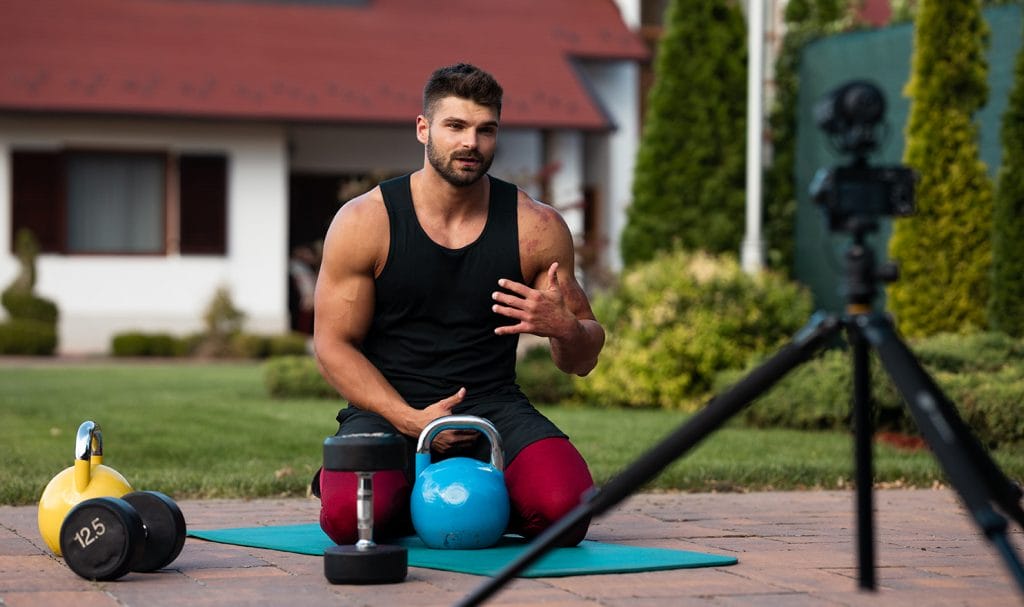
M874 500L872 484L871 438L874 424L871 419L870 358L867 342L856 323L864 316L857 316L850 326L849 341L853 347L853 421L854 452L857 462L857 563L859 584L864 590L874 590Z

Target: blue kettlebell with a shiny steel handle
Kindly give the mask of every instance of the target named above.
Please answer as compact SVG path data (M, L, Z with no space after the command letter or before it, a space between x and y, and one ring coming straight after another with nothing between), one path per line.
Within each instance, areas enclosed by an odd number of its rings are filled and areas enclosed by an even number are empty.
M473 458L430 462L430 443L442 430L477 430L490 441L490 463ZM505 457L494 425L474 416L447 416L427 424L416 445L411 510L416 533L428 547L473 550L494 546L509 522Z

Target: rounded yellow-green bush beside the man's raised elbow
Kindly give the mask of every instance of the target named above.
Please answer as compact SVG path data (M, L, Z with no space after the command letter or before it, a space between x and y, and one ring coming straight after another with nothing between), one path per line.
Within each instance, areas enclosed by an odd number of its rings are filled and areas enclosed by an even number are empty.
M715 376L776 348L806 321L810 295L771 272L744 273L731 257L663 253L595 298L607 332L597 367L574 380L602 405L692 410Z

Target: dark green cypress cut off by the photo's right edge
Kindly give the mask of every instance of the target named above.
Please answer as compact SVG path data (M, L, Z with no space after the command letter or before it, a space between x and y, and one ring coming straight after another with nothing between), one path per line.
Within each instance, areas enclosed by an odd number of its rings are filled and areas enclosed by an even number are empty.
M992 329L1024 336L1024 48L1017 53L1014 85L1002 115L1002 165L992 212Z

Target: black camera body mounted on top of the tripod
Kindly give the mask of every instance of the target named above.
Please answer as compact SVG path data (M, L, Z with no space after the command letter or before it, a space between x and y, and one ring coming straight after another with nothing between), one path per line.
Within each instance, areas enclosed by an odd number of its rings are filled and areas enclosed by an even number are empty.
M810 193L824 209L829 230L849 231L853 219L912 214L914 180L914 172L899 165L834 167L818 170Z

